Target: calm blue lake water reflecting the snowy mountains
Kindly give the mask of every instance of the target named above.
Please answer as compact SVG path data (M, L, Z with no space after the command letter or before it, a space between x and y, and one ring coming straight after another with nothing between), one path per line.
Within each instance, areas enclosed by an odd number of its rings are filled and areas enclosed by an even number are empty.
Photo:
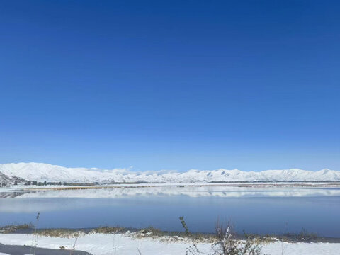
M191 191L196 192L195 188ZM183 216L191 232L214 232L217 218L225 222L230 218L237 232L283 234L300 232L303 227L324 237L340 237L339 189L314 189L314 194L315 191L318 195L306 195L302 189L304 196L271 196L277 193L274 189L254 196L251 190L236 197L229 193L239 191L222 191L227 196L215 196L215 191L206 191L202 196L157 191L142 196L138 192L123 193L109 198L75 198L69 194L71 197L57 198L35 193L31 197L0 198L0 225L34 222L36 213L40 212L38 227L42 228L152 225L182 231L179 216ZM246 192L251 192L251 196L246 196Z

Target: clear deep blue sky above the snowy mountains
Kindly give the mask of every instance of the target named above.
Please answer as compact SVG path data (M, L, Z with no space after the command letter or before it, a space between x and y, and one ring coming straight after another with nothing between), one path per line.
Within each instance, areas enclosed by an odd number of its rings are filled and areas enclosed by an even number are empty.
M1 1L0 163L340 170L339 1Z

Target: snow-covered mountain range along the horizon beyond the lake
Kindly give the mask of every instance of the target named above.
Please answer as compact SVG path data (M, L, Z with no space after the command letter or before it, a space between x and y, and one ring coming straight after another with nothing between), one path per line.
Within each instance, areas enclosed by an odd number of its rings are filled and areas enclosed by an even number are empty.
M239 171L217 169L214 171L190 170L183 173L171 171L134 172L128 169L67 168L43 163L0 164L4 176L17 176L28 181L66 181L69 183L208 183L213 181L340 181L340 171L301 169ZM1 176L0 176L1 178Z

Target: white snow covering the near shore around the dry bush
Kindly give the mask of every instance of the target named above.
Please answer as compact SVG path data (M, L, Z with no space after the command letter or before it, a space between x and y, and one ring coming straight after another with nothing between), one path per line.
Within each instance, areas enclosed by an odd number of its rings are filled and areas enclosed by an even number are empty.
M0 243L32 245L33 234L0 234ZM39 237L38 247L60 249L64 246L72 249L75 238ZM165 242L164 239L151 237L136 239L128 234L86 234L77 239L76 249L88 251L94 255L185 255L190 242ZM211 244L198 244L200 251L209 253ZM340 244L336 243L288 243L273 242L263 244L262 254L268 255L336 255Z

